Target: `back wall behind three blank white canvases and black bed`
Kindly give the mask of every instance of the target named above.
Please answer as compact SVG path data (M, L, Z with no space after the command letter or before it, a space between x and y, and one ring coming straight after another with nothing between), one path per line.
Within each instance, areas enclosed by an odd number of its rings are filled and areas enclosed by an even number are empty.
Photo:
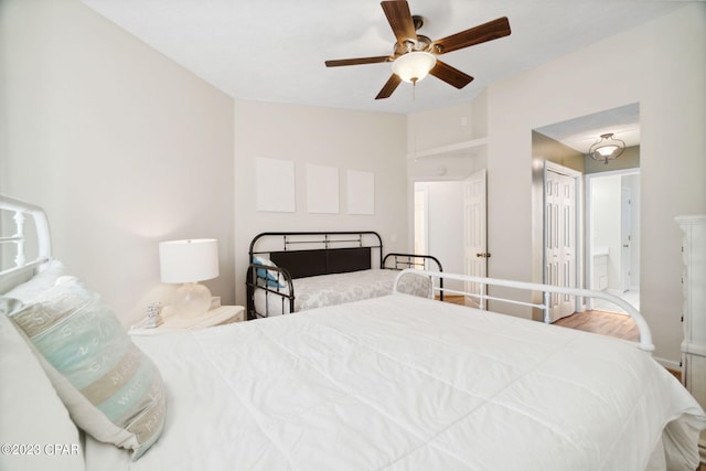
M349 111L286 104L235 103L235 259L236 300L245 303L247 253L266 231L376 231L384 251L409 251L403 115ZM257 158L295 162L296 211L255 207ZM338 214L310 214L308 163L339 170ZM347 214L346 170L375 175L375 214Z

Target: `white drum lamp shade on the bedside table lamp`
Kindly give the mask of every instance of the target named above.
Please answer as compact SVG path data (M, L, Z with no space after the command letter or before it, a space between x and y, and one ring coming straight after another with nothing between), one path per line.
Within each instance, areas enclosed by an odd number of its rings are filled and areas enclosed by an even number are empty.
M215 238L162 242L159 264L162 282L210 280L218 276L218 242Z

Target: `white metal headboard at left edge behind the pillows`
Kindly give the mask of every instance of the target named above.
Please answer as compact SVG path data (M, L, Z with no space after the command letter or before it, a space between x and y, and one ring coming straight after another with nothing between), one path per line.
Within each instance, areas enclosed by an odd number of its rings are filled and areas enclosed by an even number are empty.
M51 260L52 246L49 221L44 210L30 203L0 194L0 292L17 283L17 278L29 278L41 266ZM36 234L25 234L25 222L31 217ZM11 227L7 227L7 226ZM36 244L36 253L26 255L26 243ZM8 248L14 245L14 250ZM33 247L32 247L33 248ZM4 259L7 257L7 259ZM8 263L12 259L12 263Z

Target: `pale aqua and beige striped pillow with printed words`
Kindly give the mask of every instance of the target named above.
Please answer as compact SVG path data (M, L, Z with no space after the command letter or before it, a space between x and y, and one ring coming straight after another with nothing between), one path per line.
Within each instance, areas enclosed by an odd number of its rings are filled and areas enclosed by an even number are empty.
M164 387L152 361L100 300L74 277L11 315L41 354L74 422L137 460L164 425Z

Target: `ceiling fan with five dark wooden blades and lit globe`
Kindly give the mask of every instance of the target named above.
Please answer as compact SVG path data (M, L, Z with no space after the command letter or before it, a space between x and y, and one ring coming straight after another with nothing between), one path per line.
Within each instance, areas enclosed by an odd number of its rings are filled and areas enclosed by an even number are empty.
M425 35L417 34L424 20L421 17L411 15L409 4L405 0L383 1L381 4L397 39L393 54L325 62L327 67L392 62L393 74L375 99L389 97L403 81L416 84L427 74L431 74L456 88L463 88L471 83L473 77L439 61L437 56L510 35L510 22L506 17L503 17L431 41Z

